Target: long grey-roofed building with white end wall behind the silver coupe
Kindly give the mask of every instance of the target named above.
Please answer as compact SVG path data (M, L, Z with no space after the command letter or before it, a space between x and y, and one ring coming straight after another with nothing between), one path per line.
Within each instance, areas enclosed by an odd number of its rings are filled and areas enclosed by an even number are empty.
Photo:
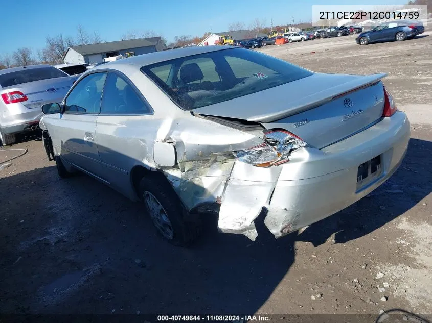
M141 55L162 51L161 37L110 41L99 44L71 46L63 55L67 63L100 63L106 57L134 53Z

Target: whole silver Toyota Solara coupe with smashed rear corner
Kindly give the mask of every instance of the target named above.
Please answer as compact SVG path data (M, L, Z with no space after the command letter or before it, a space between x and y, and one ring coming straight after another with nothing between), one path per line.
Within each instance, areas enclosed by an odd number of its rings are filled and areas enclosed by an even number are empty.
M203 214L279 238L358 201L398 168L410 123L385 74L319 74L231 46L173 49L84 73L40 121L61 177L142 200L169 241ZM310 89L318 89L311 92Z

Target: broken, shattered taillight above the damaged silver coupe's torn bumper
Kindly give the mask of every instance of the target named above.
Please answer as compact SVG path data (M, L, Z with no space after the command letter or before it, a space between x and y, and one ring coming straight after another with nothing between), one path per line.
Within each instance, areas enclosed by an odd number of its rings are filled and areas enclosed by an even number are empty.
M264 134L264 143L249 149L234 151L234 156L249 165L271 167L288 162L288 156L293 150L307 145L301 138L286 130L270 130Z

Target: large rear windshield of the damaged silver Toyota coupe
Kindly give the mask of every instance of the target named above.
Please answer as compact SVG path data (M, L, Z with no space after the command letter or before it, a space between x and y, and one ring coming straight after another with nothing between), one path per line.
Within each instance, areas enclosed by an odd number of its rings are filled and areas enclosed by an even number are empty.
M232 100L313 74L242 48L181 57L143 66L141 71L184 110Z

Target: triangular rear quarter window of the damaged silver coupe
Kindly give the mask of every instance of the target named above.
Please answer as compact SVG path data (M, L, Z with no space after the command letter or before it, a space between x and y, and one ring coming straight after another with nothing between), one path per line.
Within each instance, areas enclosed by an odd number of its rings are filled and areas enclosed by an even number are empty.
M116 73L108 73L101 106L103 114L148 114L151 112L149 106L129 82Z

